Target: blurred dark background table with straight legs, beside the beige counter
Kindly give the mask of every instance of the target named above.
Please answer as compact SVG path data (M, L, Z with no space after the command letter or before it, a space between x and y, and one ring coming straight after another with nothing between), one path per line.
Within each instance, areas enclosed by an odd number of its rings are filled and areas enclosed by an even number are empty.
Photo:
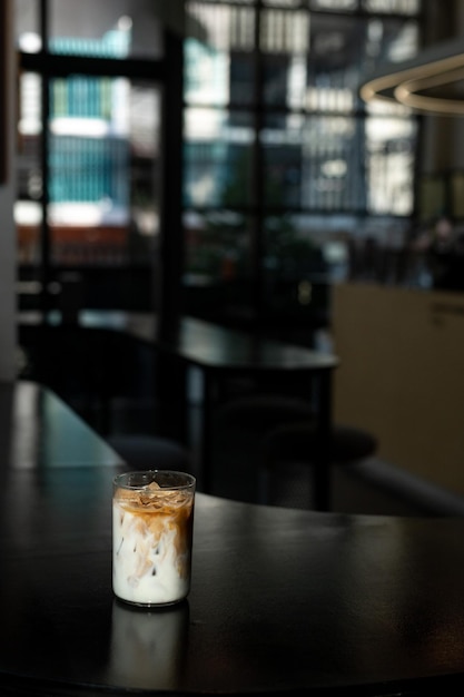
M322 443L315 463L315 504L319 510L328 509L332 373L338 364L334 355L264 340L191 317L184 317L177 333L170 338L157 340L156 346L166 359L201 371L203 419L198 460L200 487L206 493L210 491L213 477L211 412L223 381L249 376L268 384L278 379L285 380L287 385L293 381L299 391L305 385L308 403L312 402L315 409ZM186 402L187 399L186 395Z

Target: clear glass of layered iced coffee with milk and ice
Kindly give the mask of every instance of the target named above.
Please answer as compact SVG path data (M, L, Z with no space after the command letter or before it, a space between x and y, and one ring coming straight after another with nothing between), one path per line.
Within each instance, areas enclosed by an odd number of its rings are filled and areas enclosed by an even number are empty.
M113 480L112 589L137 606L179 602L190 590L196 480L171 470Z

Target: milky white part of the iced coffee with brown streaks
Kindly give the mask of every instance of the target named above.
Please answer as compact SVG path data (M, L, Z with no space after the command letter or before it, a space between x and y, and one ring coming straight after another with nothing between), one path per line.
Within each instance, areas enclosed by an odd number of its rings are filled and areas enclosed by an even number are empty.
M152 516L155 526L147 522ZM189 544L179 546L176 538L182 531L171 513L140 516L115 501L112 530L112 587L118 598L136 603L169 603L188 595Z

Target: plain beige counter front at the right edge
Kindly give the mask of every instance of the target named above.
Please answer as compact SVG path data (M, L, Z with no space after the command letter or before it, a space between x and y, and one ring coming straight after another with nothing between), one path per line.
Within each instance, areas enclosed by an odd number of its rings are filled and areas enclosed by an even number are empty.
M464 295L334 288L339 423L372 431L386 461L464 494Z

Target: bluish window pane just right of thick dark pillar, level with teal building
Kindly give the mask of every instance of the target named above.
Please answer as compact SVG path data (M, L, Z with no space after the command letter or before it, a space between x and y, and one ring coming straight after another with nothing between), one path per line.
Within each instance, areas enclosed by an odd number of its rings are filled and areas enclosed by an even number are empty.
M187 109L185 205L248 205L251 196L253 140L249 114Z

